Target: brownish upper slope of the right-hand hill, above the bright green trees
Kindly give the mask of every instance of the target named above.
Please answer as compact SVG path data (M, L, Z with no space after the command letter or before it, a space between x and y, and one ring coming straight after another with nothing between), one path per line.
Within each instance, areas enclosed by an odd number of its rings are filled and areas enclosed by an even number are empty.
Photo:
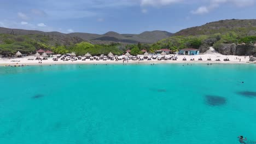
M206 23L202 26L183 29L174 35L212 35L216 33L235 32L241 36L256 35L256 20L220 20Z

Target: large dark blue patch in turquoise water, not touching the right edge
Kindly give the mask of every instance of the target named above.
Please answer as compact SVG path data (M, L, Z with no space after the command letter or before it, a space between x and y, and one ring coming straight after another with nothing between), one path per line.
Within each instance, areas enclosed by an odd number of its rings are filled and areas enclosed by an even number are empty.
M226 104L226 99L216 95L205 95L206 104L211 106L220 106Z

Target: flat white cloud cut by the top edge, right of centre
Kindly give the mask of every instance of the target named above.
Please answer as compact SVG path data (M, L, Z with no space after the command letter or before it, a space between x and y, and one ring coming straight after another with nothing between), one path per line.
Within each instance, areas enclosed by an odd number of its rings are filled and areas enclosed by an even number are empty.
M183 0L141 0L141 5L167 5L182 2Z

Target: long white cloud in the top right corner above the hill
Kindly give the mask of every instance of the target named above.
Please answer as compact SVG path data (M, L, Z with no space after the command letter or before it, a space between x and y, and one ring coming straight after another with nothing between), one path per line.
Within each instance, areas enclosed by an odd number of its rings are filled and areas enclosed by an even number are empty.
M207 6L201 6L196 10L192 10L192 14L206 14L216 9L221 4L232 4L236 5L236 7L246 7L249 5L253 5L255 0L211 0Z

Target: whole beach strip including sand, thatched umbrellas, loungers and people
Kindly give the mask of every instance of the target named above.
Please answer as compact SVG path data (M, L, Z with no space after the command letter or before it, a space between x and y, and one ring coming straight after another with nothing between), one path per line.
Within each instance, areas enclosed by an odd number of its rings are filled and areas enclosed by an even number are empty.
M0 58L0 65L6 67L22 67L24 65L41 64L122 64L122 63L249 63L251 56L225 56L214 51L208 51L201 55L137 55L131 56L125 53L122 56L109 55L91 56L86 53L84 56L75 56L74 53L66 55L31 55L25 57Z

